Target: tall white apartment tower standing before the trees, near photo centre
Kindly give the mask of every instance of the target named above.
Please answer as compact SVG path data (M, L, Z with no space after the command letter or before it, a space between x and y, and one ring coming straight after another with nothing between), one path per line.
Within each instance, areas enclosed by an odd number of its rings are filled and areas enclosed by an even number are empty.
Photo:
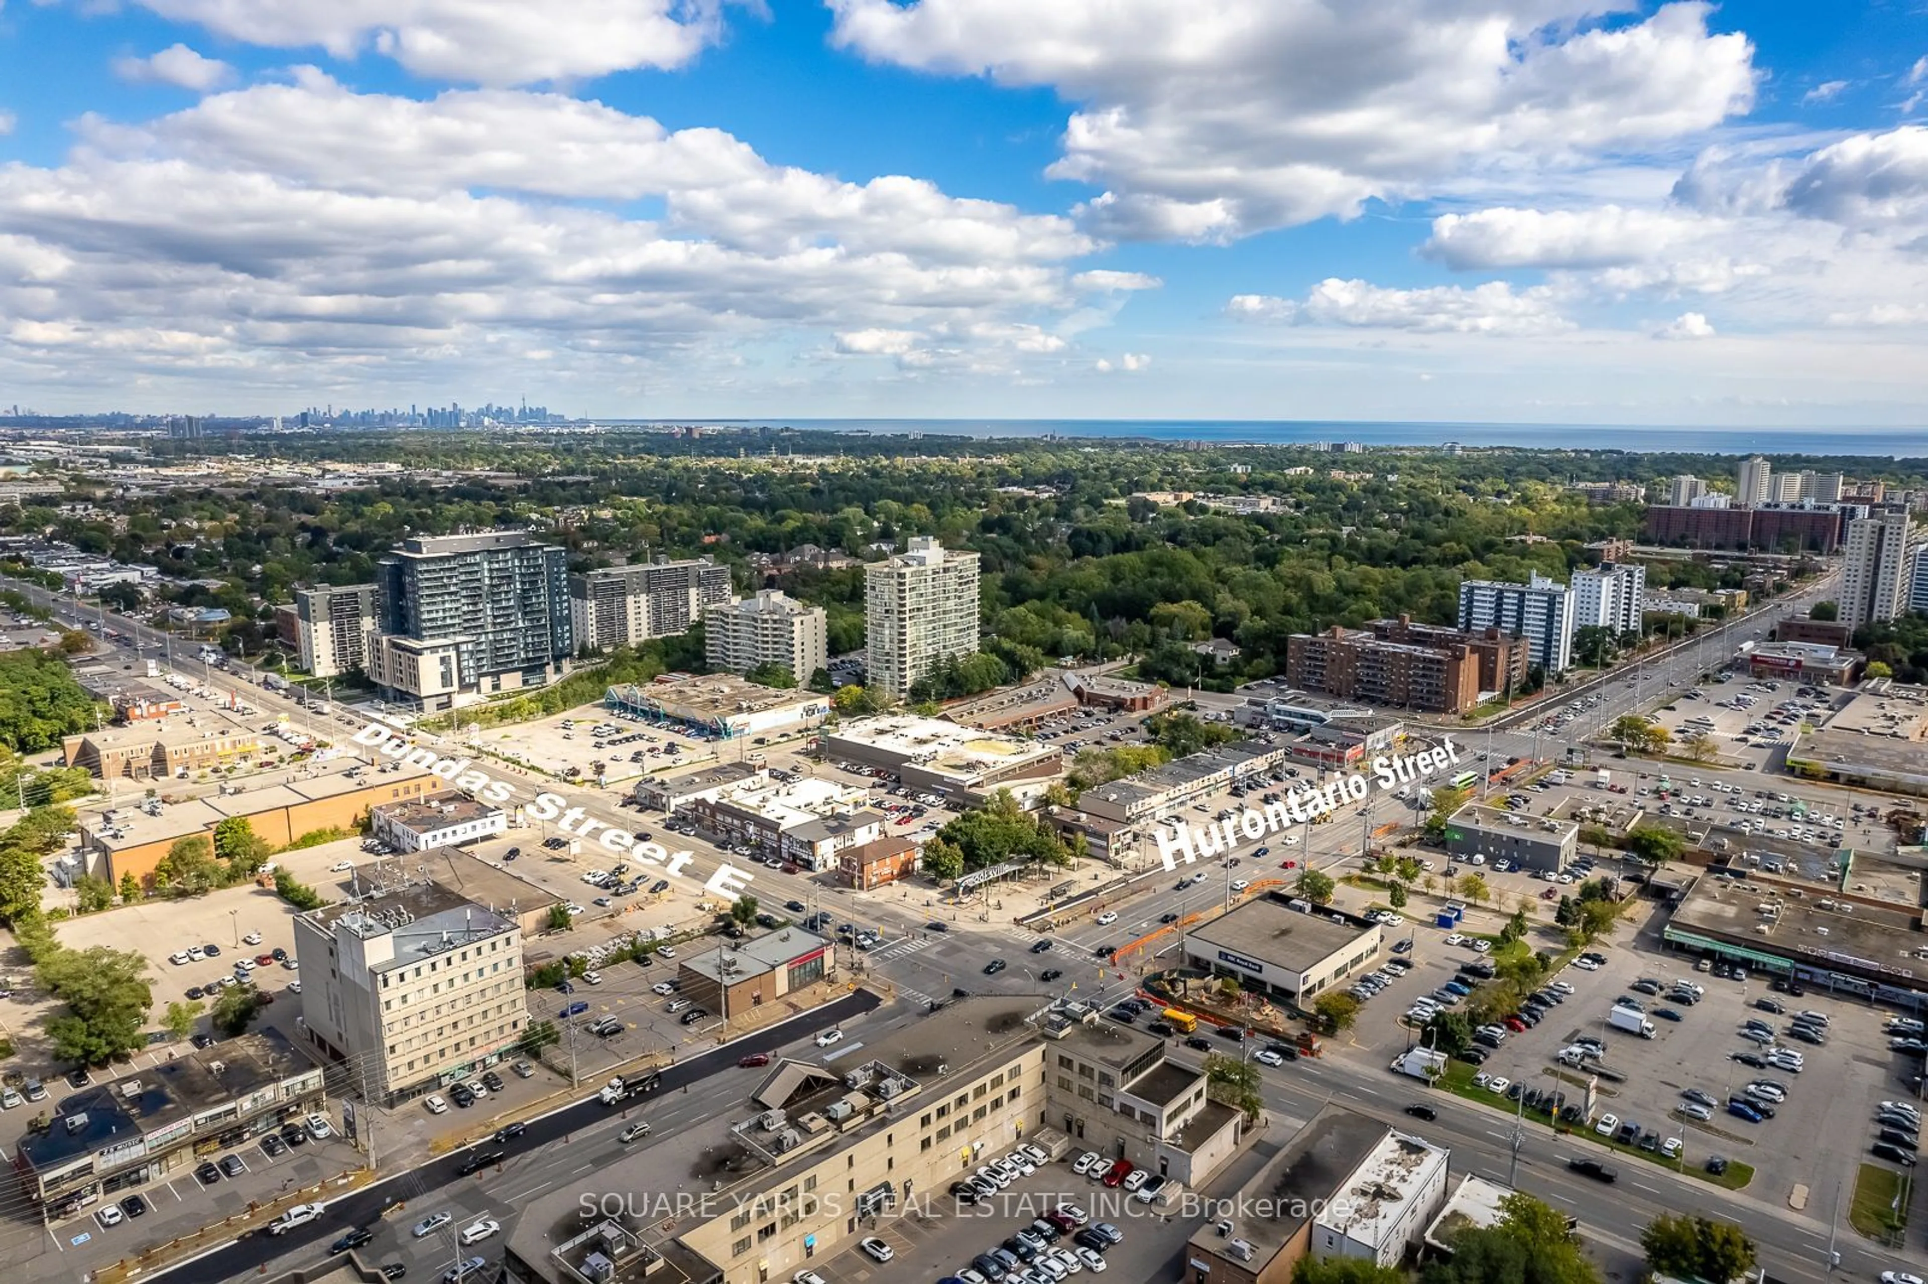
M977 650L977 553L956 553L929 536L864 573L868 684L889 700L945 655Z

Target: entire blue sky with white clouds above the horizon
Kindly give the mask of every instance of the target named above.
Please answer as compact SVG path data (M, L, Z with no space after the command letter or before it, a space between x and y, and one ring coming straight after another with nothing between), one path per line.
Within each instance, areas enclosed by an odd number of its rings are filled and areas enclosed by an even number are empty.
M0 0L0 405L1928 420L1918 0Z

